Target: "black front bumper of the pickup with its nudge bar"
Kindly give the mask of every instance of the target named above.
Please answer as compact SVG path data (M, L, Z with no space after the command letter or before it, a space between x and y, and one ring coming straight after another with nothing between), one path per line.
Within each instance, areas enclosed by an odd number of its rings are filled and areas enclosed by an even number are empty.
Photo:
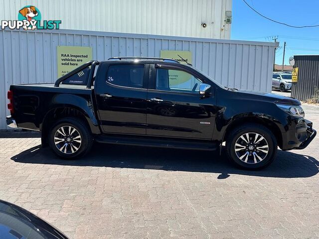
M304 149L317 135L313 123L307 119L298 122L287 132L283 133L283 150Z

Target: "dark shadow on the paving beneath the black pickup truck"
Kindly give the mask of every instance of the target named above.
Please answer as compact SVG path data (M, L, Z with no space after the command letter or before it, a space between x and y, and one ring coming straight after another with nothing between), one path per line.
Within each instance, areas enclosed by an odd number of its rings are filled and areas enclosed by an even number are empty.
M231 174L297 178L311 177L319 172L319 161L314 157L281 150L278 150L277 158L269 167L259 171L234 167L224 152L219 156L218 152L211 151L99 143L94 144L89 154L77 160L63 160L53 154L50 148L42 148L41 145L27 149L11 159L19 163L220 173L218 179L227 178Z

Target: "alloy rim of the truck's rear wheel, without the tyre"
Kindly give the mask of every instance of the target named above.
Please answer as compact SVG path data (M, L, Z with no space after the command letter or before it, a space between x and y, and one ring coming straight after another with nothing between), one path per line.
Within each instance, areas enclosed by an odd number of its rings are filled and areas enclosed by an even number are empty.
M71 154L79 150L82 139L76 128L65 125L55 131L54 143L62 153Z

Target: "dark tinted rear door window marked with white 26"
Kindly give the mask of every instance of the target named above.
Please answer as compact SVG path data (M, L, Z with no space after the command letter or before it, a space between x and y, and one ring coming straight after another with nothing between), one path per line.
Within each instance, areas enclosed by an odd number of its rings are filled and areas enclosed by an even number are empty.
M108 68L106 82L131 88L143 88L144 65L119 64Z

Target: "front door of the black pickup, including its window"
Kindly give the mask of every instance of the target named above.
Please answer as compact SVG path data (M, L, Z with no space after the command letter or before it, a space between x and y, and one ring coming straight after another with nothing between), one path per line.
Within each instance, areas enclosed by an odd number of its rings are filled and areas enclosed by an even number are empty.
M182 67L151 64L150 68L147 135L211 139L216 98L213 92L209 97L199 94L199 85L207 80Z

